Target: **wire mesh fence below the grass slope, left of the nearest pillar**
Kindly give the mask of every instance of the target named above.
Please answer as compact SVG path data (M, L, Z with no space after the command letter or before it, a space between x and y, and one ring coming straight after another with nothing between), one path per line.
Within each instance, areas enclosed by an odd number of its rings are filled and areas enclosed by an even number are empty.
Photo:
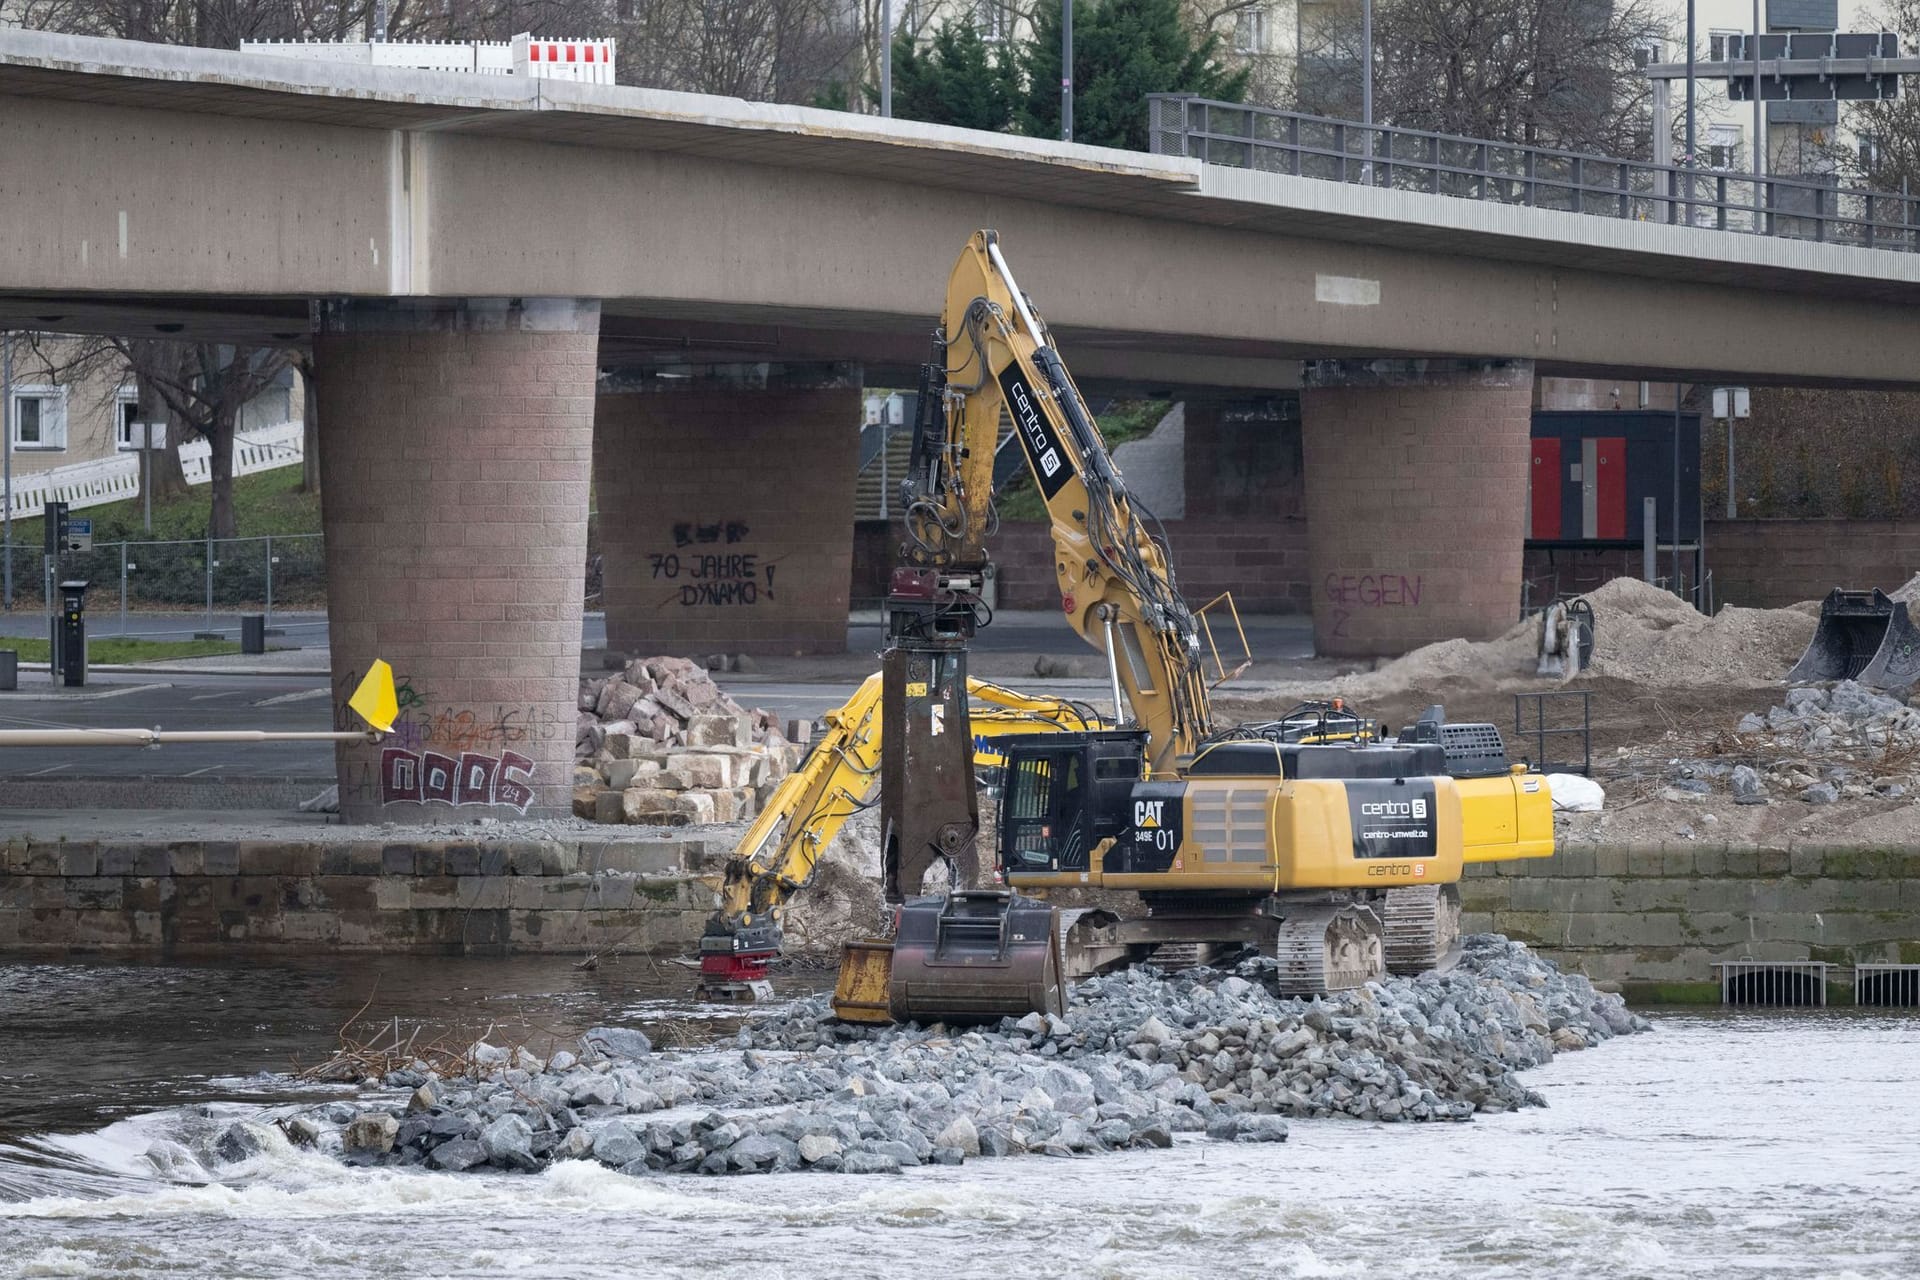
M15 543L0 555L8 572L12 612L44 610L48 593L60 601L60 583L83 578L92 583L86 606L96 620L119 616L121 635L179 629L182 614L200 612L205 628L215 618L307 612L326 608L326 549L319 533L282 537L202 537L194 541L94 543L58 562L40 547ZM144 618L167 622L142 626Z

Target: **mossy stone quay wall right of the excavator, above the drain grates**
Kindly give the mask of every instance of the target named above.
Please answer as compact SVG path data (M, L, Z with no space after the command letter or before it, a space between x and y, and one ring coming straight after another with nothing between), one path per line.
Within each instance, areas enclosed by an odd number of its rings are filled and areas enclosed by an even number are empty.
M1920 963L1920 848L1561 848L1469 867L1461 929L1596 981L1711 983L1716 960Z

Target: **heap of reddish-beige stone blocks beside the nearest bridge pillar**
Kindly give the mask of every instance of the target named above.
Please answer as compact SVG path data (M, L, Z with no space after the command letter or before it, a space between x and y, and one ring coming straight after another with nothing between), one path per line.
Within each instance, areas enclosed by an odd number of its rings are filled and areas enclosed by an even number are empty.
M636 658L580 681L574 814L684 827L760 812L797 764L776 718L745 710L687 658Z

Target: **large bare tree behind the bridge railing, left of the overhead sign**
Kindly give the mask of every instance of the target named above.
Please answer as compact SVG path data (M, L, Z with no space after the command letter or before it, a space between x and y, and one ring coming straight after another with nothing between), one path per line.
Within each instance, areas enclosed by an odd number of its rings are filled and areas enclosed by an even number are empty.
M1354 119L1359 4L1311 13L1300 33L1302 109ZM1634 50L1665 29L1651 0L1377 0L1373 115L1402 129L1640 155L1651 90Z

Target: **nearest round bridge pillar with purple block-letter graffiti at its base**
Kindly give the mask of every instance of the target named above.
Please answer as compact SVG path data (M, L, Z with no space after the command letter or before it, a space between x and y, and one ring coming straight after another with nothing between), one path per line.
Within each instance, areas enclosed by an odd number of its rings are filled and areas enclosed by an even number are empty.
M338 748L344 819L570 810L597 344L597 301L321 307L336 727L374 658L399 683Z

